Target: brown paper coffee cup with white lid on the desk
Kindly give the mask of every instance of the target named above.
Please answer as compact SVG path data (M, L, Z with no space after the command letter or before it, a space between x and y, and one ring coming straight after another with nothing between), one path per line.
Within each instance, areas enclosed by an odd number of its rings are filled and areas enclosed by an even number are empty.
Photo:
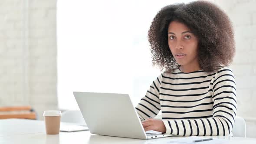
M61 111L44 111L46 134L59 134Z

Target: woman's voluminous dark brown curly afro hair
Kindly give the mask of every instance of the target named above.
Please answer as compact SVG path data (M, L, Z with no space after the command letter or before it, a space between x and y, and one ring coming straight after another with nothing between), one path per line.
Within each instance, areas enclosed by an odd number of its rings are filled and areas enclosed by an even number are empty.
M168 26L174 20L184 23L199 39L199 65L204 72L231 64L235 42L229 17L213 3L194 1L165 6L154 17L148 30L153 66L171 72L178 65L167 36Z

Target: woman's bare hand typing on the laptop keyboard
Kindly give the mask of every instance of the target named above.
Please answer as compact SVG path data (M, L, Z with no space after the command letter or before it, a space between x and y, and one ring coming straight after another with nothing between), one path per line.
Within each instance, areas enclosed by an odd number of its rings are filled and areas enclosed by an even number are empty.
M164 122L162 120L148 118L145 121L141 122L144 128L144 131L159 131L162 133L166 132L166 128L164 126Z

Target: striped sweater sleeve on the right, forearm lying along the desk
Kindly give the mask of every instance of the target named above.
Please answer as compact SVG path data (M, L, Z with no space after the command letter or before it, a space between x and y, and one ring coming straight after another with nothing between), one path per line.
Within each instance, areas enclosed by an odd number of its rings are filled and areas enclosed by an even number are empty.
M236 117L236 82L232 70L226 67L219 69L210 82L210 88L213 94L212 117L163 120L167 129L166 134L179 136L230 134Z

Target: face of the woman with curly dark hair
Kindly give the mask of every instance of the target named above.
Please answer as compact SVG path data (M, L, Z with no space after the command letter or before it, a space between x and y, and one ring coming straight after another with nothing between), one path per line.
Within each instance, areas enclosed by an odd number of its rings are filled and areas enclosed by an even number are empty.
M177 21L169 24L168 45L179 65L198 65L198 39L186 25Z

